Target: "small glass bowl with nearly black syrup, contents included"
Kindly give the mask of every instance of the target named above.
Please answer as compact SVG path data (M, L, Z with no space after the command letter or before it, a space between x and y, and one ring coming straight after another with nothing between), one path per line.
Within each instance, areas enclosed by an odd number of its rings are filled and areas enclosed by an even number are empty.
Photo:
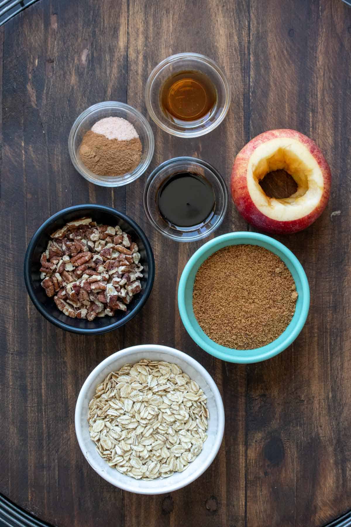
M146 215L155 229L172 240L195 241L209 236L222 223L227 204L222 176L201 159L169 159L146 181Z

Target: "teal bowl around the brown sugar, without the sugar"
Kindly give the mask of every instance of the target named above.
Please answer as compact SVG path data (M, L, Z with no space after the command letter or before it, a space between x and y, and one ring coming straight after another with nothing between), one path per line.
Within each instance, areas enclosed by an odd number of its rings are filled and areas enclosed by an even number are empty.
M200 328L193 313L193 287L200 265L219 249L228 245L240 245L243 243L265 247L278 255L291 272L298 292L295 314L284 333L272 343L267 344L267 346L247 350L226 348L216 344ZM296 256L283 243L256 232L229 232L205 243L187 262L179 281L178 307L185 329L205 352L227 362L239 364L256 363L278 355L295 340L304 327L309 308L308 280Z

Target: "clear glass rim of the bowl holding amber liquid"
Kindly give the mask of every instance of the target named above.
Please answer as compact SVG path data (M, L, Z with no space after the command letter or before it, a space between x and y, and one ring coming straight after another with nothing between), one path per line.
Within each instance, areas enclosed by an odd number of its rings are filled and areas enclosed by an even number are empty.
M215 120L208 128L205 128L203 130L196 130L196 131L187 131L187 132L180 132L178 130L173 130L172 128L169 128L166 126L162 121L160 121L155 114L154 110L152 109L152 106L150 104L150 88L151 85L159 71L163 69L163 67L167 64L171 64L172 62L176 62L179 58L193 58L194 60L197 60L199 62L206 62L209 66L213 67L214 70L219 74L220 78L222 79L223 84L225 85L225 90L227 93L226 97L226 104L222 109L222 112L220 112L218 119ZM217 126L222 123L223 119L227 115L227 112L229 110L230 106L230 99L231 99L231 92L230 92L230 85L227 81L227 77L224 74L224 71L215 63L215 61L212 60L212 58L207 57L206 55L202 55L200 53L177 53L176 55L171 55L167 58L164 58L163 61L161 61L159 64L157 64L156 67L154 67L153 71L148 76L148 79L146 81L145 86L145 104L146 109L148 111L149 116L151 119L161 128L164 132L167 132L171 135L176 135L177 137L183 137L183 138L194 138L194 137L200 137L201 135L205 135L209 132L212 132Z

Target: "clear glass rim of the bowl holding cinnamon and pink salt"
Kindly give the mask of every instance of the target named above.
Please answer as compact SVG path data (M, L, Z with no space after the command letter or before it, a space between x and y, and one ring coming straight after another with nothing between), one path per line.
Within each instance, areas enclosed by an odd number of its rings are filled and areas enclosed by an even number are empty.
M102 108L121 108L121 109L124 109L124 110L129 110L130 112L132 112L139 119L139 121L141 121L141 123L144 126L144 128L146 129L147 135L149 137L150 148L149 148L149 152L148 152L148 154L147 154L147 156L145 158L145 161L142 163L142 165L137 170L134 170L133 172L129 172L129 174L130 174L129 178L127 178L127 179L125 179L123 181L116 181L116 182L110 183L110 182L104 182L104 181L96 180L94 177L92 177L86 171L82 170L82 168L79 166L79 164L77 162L77 158L76 158L76 155L75 155L75 152L74 152L73 142L74 142L74 138L75 138L75 134L77 132L78 126L81 125L81 123L84 121L84 119L88 115L90 115L91 113L94 113L96 110L99 110L99 109L102 109ZM155 150L154 133L152 131L151 126L149 125L149 123L145 119L144 115L141 112L139 112L138 110L136 110L135 108L133 108L133 106L130 106L129 104L126 104L124 102L119 102L119 101L102 101L102 102L98 102L96 104L93 104L92 106L89 106L89 108L87 108L86 110L84 110L84 112L82 112L81 114L78 115L78 117L76 118L76 120L74 121L74 123L72 125L71 131L69 132L69 136L68 136L68 152L69 152L69 157L71 158L71 161L72 161L72 164L73 164L74 168L77 170L77 172L79 172L79 174L81 174L83 176L83 178L85 178L87 181L89 181L91 183L94 183L95 185L98 185L99 187L123 187L124 185L127 185L128 183L132 183L133 181L135 181L136 179L141 177L141 175L144 174L144 172L147 170L149 164L151 163L151 160L152 160L153 155L154 155L154 150ZM122 175L126 175L126 174L122 174ZM116 178L118 178L118 176L116 176Z

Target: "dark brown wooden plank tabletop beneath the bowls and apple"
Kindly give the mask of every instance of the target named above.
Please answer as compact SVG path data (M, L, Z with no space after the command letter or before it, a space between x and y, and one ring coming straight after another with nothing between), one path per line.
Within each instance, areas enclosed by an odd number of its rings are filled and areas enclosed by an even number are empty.
M351 508L351 9L341 0L40 0L0 30L0 493L54 525L99 527L324 525ZM176 303L184 265L203 242L159 235L142 206L146 175L108 190L73 168L76 116L104 100L146 115L144 86L163 58L216 60L232 105L194 140L152 123L150 170L176 155L203 158L229 182L236 153L260 132L293 128L316 140L333 174L327 209L283 241L302 262L310 313L300 336L267 362L220 362L189 338ZM149 171L148 171L149 173ZM131 323L82 337L49 324L29 300L23 258L54 212L78 203L126 212L156 257L151 298ZM230 202L216 236L251 229ZM214 463L171 495L120 491L85 462L76 398L91 370L126 346L182 349L222 392L225 437Z

